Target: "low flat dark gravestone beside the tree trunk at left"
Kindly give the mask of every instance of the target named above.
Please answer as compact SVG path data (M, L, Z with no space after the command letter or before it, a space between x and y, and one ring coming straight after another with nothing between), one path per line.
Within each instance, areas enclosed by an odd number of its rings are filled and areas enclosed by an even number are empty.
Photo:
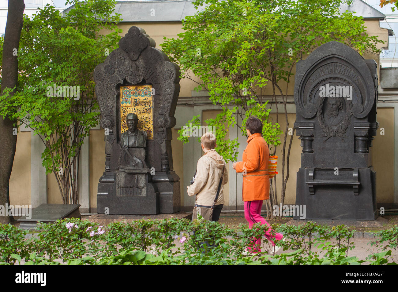
M33 209L30 218L24 216L17 220L21 229L35 229L38 221L51 223L64 218L79 218L79 204L41 204Z

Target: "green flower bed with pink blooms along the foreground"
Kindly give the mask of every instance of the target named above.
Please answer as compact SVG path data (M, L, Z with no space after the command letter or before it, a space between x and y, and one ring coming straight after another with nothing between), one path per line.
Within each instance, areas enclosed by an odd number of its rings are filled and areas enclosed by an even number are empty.
M346 226L299 226L274 224L285 234L276 242L284 251L270 252L259 223L252 229L236 229L220 222L186 219L137 220L99 226L88 220L64 219L39 223L30 238L26 230L0 224L2 264L395 264L397 228L379 232L372 245L385 244L383 251L367 261L348 257L354 248L353 233ZM261 252L248 254L247 247L262 238ZM394 239L395 238L395 239Z

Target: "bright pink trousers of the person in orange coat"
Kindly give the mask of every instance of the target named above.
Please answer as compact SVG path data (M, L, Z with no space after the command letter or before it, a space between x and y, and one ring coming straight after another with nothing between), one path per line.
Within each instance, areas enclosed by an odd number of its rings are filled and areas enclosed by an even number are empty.
M265 224L267 229L265 230L264 236L271 242L272 246L275 246L275 243L271 239L281 240L283 238L283 234L275 233L275 236L271 235L272 232L271 226L263 217L261 217L261 207L263 205L263 201L247 201L244 202L245 209L245 218L249 222L249 227L252 228L254 223L261 222L261 224ZM254 244L248 248L249 252L259 252L261 245L261 238L254 238L252 243ZM253 250L252 250L253 249Z

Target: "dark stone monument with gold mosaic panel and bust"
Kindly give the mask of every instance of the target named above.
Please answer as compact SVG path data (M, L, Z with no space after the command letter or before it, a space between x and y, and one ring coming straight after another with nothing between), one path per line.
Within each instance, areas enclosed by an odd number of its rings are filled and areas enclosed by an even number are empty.
M94 70L106 142L98 213L179 211L179 177L173 171L170 142L179 74L179 67L135 26Z

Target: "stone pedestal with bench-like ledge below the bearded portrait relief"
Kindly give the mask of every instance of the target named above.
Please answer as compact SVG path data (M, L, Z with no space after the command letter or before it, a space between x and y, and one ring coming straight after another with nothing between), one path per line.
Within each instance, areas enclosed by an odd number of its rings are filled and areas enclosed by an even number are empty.
M376 172L373 168L300 168L296 204L306 206L306 220L375 220ZM299 219L296 217L295 219Z

